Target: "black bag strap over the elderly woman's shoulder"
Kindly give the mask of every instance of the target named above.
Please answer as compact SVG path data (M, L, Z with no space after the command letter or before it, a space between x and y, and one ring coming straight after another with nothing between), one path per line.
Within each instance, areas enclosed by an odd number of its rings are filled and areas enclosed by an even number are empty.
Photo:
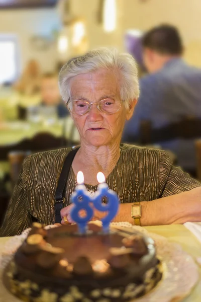
M61 211L61 209L63 207L63 203L65 201L66 181L68 178L70 167L72 165L72 161L73 161L78 149L79 149L79 147L73 148L68 153L68 155L65 158L63 168L61 170L61 174L59 176L59 181L58 181L58 185L57 185L56 193L55 193L55 205L54 205L56 223L61 223L60 211Z

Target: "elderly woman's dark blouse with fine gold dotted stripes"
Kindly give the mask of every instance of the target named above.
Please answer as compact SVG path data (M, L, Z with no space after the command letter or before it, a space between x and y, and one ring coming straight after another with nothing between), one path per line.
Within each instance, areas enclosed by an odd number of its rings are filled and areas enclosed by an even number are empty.
M201 186L180 168L174 167L169 155L163 150L128 144L122 144L120 148L120 158L106 182L118 194L121 203L151 201ZM30 227L32 221L44 224L55 222L55 191L70 150L51 150L25 159L0 237L19 235ZM70 204L75 187L76 177L71 167L64 206ZM96 191L97 186L86 184L86 188Z

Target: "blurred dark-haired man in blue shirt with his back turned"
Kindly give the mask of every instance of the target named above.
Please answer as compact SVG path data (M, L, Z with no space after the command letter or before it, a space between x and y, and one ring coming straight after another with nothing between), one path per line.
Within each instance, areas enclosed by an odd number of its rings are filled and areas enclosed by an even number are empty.
M177 29L170 25L157 26L145 33L142 45L150 74L140 81L140 98L123 134L123 141L127 142L138 136L142 120L160 128L187 116L201 117L201 69L183 61L183 45ZM179 166L195 174L192 139L158 143L175 153Z

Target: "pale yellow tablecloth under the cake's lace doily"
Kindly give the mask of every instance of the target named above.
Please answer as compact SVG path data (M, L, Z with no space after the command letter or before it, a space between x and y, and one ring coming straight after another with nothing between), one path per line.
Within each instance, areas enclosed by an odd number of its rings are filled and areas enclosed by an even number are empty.
M168 238L171 242L178 243L183 250L190 254L194 259L201 257L201 244L182 224L146 226L145 229L150 233L155 233ZM10 238L0 238L0 244L5 244ZM201 301L201 267L199 267L199 282L194 287L188 297L183 302Z

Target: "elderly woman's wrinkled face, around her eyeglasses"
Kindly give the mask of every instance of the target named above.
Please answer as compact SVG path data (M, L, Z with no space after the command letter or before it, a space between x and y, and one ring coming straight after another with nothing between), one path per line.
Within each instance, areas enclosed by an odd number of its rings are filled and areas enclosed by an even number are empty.
M121 100L120 84L112 70L99 69L95 72L79 74L70 81L71 99L84 99L89 103L112 97ZM135 103L135 102L133 102ZM120 142L126 119L133 114L134 105L126 109L122 104L120 110L114 114L104 114L95 105L89 112L77 116L71 113L80 134L82 143L100 146Z

